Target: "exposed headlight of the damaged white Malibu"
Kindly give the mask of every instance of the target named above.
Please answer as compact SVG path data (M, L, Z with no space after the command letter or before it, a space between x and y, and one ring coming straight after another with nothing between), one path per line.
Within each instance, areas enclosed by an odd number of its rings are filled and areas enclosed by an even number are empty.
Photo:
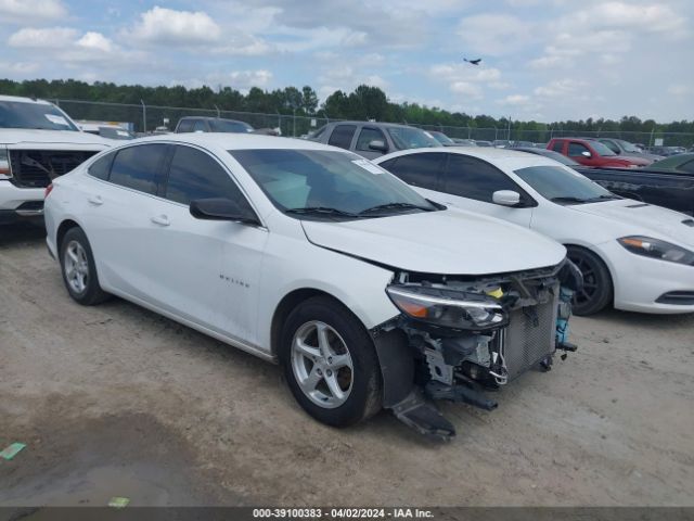
M453 329L497 329L509 317L496 298L481 293L424 285L389 285L393 303L408 317Z

